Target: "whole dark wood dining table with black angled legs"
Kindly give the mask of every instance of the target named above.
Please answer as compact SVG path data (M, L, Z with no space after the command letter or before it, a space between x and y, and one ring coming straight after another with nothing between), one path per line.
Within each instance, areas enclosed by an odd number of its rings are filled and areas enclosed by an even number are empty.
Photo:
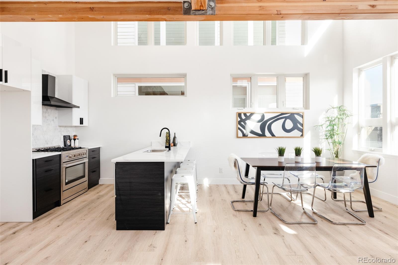
M332 171L334 164L362 164L365 168L375 168L376 166L363 164L341 158L322 158L322 162L315 162L315 158L302 158L300 162L295 162L295 158L285 158L284 162L278 162L277 158L241 158L246 163L245 177L249 177L250 166L256 168L254 198L258 198L260 192L261 171L284 171L285 165L290 163L315 163L316 171ZM243 186L242 199L245 198L246 185ZM365 195L366 206L370 217L375 217L373 213L372 198L369 190L368 177L366 170L363 176L363 195ZM336 198L336 193L333 194ZM253 203L253 217L257 216L258 200Z

